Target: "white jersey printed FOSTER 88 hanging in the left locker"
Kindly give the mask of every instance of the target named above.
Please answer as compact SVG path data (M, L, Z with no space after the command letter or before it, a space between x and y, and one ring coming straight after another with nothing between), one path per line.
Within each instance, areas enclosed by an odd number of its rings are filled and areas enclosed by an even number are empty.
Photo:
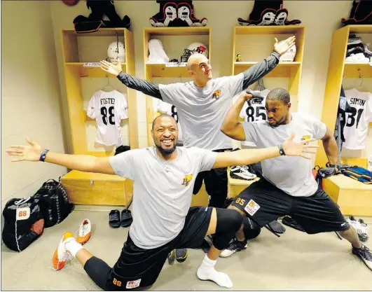
M87 116L97 122L97 143L106 146L123 145L120 120L128 118L128 102L123 93L98 90L90 99Z

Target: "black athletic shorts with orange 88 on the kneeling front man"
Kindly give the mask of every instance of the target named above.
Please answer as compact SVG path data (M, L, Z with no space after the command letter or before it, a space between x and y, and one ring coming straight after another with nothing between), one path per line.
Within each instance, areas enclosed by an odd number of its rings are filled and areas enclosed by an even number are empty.
M212 207L191 207L186 216L184 228L171 242L156 249L142 249L136 246L128 235L120 258L109 272L106 290L127 290L151 286L173 249L197 249L207 234Z

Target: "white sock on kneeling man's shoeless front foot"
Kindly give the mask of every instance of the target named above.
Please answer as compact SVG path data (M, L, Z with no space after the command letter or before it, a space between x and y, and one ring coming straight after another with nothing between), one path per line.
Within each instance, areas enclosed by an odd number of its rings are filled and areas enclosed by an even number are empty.
M198 278L200 280L214 281L221 287L233 287L233 282L230 280L230 277L228 277L227 274L223 274L223 272L217 272L216 269L214 269L214 265L216 265L216 263L217 260L211 260L207 257L207 255L205 255L204 260L202 260L202 264L196 272Z

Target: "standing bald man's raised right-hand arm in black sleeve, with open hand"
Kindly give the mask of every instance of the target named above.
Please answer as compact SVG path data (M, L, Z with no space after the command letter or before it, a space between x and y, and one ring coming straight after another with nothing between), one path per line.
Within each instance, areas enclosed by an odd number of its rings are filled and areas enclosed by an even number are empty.
M294 46L295 41L296 37L291 36L283 43L279 44L277 39L275 38L274 52L271 53L270 56L268 56L265 60L263 60L263 62L259 62L243 72L243 88L247 88L249 85L272 71L279 63L280 55L283 55L287 52L287 50L289 50L289 48Z

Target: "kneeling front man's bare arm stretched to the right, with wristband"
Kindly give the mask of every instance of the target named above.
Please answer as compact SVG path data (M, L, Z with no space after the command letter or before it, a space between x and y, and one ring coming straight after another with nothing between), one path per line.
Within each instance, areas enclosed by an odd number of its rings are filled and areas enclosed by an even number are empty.
M216 162L212 168L228 167L235 165L250 165L252 163L260 162L268 158L275 158L280 155L287 156L301 156L306 159L311 159L305 153L316 153L310 148L318 148L318 145L310 145L308 143L316 141L316 139L307 139L301 142L294 142L294 134L287 138L282 146L273 146L262 149L243 149L233 152L222 152L216 156ZM282 153L280 153L282 149Z

